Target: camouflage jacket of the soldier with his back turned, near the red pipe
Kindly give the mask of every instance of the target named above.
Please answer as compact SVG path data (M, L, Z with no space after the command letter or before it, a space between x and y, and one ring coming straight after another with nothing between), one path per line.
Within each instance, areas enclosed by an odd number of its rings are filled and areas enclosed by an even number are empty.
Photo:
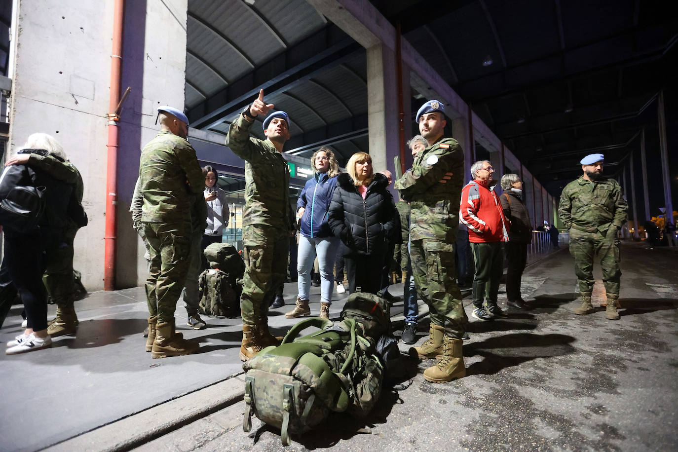
M142 222L193 220L197 199L194 195L202 196L204 186L195 150L186 139L161 130L142 149L139 163L139 190L144 197Z

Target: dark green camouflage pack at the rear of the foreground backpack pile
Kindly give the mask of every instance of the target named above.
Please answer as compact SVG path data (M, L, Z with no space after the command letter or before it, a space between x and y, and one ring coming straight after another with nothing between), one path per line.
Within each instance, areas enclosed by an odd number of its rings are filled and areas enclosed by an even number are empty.
M341 311L341 319L354 319L363 325L365 336L378 340L383 334L391 332L391 308L388 302L377 295L367 292L351 293Z

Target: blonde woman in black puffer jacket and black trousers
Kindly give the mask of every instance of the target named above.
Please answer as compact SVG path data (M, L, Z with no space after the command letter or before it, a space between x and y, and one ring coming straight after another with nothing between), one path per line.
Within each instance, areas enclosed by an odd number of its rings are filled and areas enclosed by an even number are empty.
M397 211L386 176L372 171L372 158L357 152L337 177L328 222L342 241L348 291L377 293L381 287L386 239L395 231Z

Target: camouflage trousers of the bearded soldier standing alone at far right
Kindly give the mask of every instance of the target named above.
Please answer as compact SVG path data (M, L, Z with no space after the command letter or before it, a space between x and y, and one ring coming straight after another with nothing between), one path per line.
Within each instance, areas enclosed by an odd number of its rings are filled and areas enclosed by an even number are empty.
M570 228L570 254L574 258L574 273L579 280L579 291L582 295L591 295L593 290L593 260L600 258L603 270L603 285L607 295L619 295L619 281L622 272L619 269L619 240L616 230L601 232L584 232Z

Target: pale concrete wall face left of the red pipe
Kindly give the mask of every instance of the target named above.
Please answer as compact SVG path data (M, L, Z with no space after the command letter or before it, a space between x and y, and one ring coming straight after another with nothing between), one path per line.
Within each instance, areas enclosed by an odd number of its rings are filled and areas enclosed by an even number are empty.
M17 5L10 152L31 133L49 133L81 171L89 224L75 238L74 265L85 287L101 289L113 2L20 0Z

